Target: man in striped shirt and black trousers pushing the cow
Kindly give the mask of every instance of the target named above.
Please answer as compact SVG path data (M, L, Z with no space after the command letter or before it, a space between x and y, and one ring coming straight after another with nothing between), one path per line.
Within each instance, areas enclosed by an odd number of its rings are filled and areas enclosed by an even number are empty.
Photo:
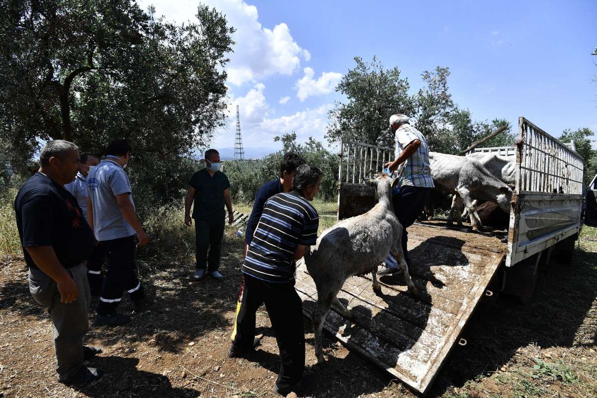
M319 215L309 202L321 175L316 167L298 166L293 191L267 200L242 266L241 308L228 356L253 351L256 312L265 304L282 360L274 390L284 396L296 389L304 371L303 303L294 289L294 271L317 239Z

